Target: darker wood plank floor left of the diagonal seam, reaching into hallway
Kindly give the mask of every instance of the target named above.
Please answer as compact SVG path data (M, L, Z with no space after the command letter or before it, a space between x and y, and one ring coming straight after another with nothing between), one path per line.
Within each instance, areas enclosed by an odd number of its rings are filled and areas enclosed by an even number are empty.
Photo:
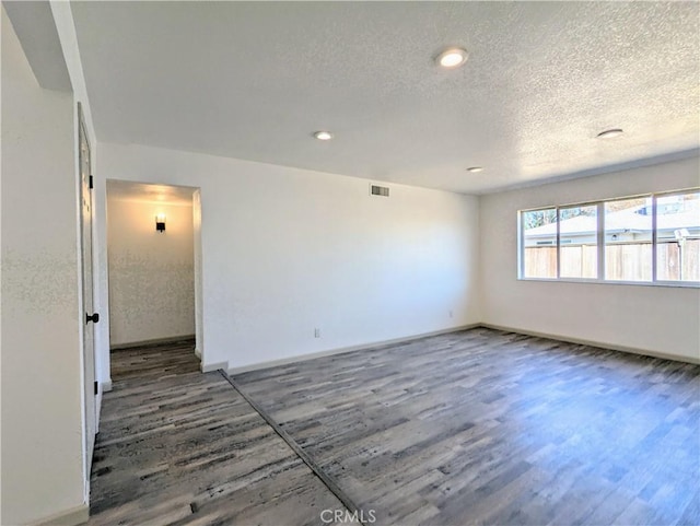
M90 525L316 525L345 510L220 373L199 373L189 342L115 351L112 367Z

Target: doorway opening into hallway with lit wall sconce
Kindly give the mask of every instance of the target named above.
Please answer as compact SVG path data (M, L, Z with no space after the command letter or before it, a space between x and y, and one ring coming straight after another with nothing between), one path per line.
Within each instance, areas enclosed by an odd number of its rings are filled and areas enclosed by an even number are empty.
M201 204L199 189L107 180L107 277L112 378L144 369L168 374L179 349L200 367ZM149 362L138 349L150 350ZM119 351L135 352L133 358ZM126 358L126 359L125 359ZM194 361L196 358L196 362ZM116 369L115 369L116 367Z

